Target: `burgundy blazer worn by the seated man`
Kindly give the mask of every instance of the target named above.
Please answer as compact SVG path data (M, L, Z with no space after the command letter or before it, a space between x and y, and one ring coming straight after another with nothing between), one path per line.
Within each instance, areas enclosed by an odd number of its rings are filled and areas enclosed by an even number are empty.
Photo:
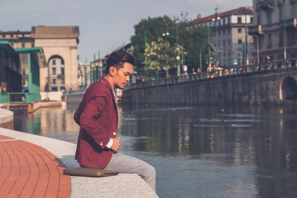
M104 168L109 163L113 151L105 146L116 137L118 125L112 87L104 77L100 80L86 90L74 113L80 126L75 159L91 168Z

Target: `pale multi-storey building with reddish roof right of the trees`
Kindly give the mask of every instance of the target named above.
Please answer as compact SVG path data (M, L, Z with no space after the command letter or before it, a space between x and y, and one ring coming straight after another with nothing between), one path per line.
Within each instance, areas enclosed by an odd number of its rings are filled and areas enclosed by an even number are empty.
M253 25L252 7L240 7L221 13L216 12L207 17L198 15L191 27L210 27L213 33L210 38L211 59L218 67L230 67L235 64L245 65L247 55L248 62L254 62L254 59L249 55L254 50L252 36L247 35L246 42L246 19L248 30ZM247 55L245 55L246 44ZM237 59L237 62L234 59Z

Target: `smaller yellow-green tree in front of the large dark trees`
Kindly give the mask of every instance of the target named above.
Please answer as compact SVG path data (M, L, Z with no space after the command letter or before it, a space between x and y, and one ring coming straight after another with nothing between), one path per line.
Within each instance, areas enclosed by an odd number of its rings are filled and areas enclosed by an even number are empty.
M167 64L166 64L166 46L167 46ZM147 58L145 63L147 67L145 71L152 74L157 74L160 70L169 70L177 67L176 55L186 55L187 52L180 45L170 46L170 43L164 39L158 38L157 41L152 41L147 44Z

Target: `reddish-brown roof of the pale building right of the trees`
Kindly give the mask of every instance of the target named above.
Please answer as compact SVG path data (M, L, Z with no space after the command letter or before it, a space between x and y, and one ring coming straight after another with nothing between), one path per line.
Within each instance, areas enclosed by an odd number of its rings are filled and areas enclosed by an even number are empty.
M218 13L217 16L220 17L220 18L223 18L223 17L226 17L226 16L232 16L232 15L253 15L252 7L240 7L240 8L237 8L237 9L233 9L233 10ZM203 18L197 18L193 22L192 25L196 25L196 24L199 24L199 23L204 23L204 22L207 22L207 21L211 21L212 18L214 18L214 14L203 17Z

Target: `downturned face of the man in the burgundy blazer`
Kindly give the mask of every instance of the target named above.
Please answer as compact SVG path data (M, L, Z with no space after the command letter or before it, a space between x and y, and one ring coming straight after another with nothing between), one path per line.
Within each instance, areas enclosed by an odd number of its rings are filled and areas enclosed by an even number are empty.
M125 62L124 67L114 72L114 86L118 89L124 89L130 81L130 75L133 73L133 65Z

